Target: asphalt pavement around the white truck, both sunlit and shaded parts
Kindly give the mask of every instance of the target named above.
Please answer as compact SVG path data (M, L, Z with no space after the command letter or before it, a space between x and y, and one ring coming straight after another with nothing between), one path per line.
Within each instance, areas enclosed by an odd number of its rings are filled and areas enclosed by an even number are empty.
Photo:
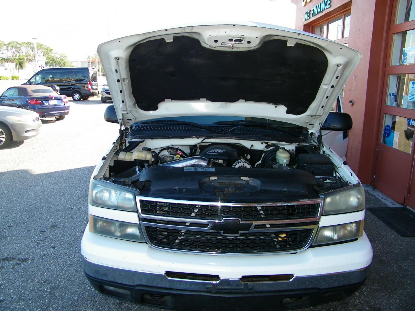
M100 294L83 275L88 182L118 135L103 119L108 104L71 101L64 120L43 121L38 136L0 150L0 310L161 310ZM372 194L366 205L385 206ZM415 238L369 211L365 231L374 262L364 286L302 310L413 310Z

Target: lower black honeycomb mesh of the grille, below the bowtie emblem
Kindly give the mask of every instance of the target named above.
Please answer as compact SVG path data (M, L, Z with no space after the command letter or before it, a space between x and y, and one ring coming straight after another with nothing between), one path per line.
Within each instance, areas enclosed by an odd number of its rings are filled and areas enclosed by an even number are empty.
M293 231L246 232L222 236L214 231L190 231L145 226L151 244L171 250L205 253L273 253L304 248L313 229Z

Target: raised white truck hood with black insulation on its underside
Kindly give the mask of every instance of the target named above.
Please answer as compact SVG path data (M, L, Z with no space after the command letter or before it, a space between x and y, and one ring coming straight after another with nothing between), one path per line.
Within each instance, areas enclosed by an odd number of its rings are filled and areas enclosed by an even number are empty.
M358 51L283 27L203 25L98 46L124 126L192 115L258 117L317 133Z

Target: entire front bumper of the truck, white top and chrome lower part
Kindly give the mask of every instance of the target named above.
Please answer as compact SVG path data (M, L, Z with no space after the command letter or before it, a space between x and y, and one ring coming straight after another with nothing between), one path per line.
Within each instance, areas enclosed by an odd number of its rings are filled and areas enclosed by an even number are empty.
M354 242L308 248L293 254L215 256L156 250L146 243L90 233L88 227L81 241L81 253L85 274L100 292L149 305L177 305L180 309L186 309L183 306L193 296L196 301L201 296L227 299L252 296L247 301L250 302L256 296L271 295L274 302L279 299L281 306L289 297L303 297L300 301L293 300L299 307L329 297L340 299L363 284L373 255L366 234ZM220 279L209 282L169 278L166 271L217 275ZM294 277L279 282L241 281L243 276L286 274ZM111 287L122 290L117 292ZM154 295L168 298L153 299L149 294L153 298L157 297ZM192 297L184 299L183 295ZM220 302L221 306L223 303Z

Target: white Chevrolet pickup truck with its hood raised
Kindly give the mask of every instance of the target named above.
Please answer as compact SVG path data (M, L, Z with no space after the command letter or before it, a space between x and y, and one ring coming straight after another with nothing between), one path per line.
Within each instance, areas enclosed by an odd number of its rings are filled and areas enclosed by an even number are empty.
M96 289L164 308L292 309L363 284L364 189L322 138L352 127L330 110L359 52L249 23L98 54L120 136L90 180L81 254Z

